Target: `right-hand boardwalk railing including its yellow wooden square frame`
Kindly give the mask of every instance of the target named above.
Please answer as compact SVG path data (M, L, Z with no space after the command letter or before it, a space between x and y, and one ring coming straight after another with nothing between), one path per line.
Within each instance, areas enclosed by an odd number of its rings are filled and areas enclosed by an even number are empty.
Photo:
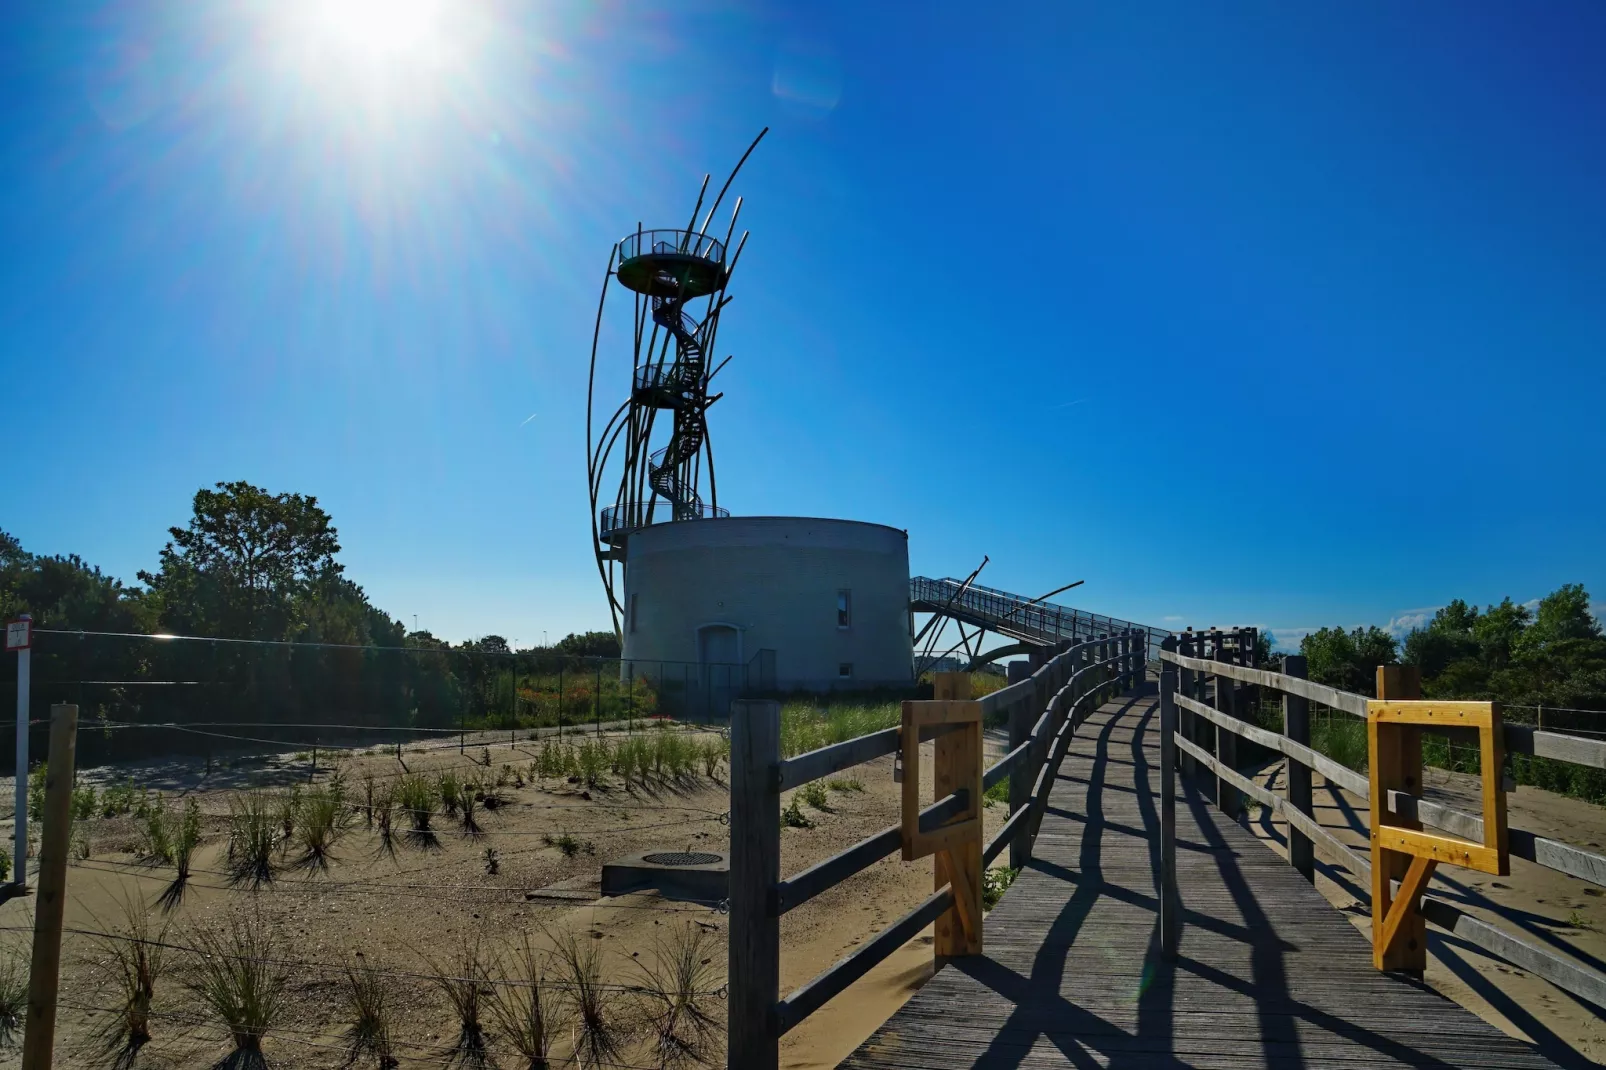
M1288 863L1307 880L1315 879L1315 852L1320 850L1328 861L1372 888L1373 946L1380 969L1420 974L1428 954L1425 924L1433 922L1481 951L1606 1007L1606 974L1539 946L1508 927L1474 917L1447 900L1425 895L1431 864L1420 861L1428 858L1484 869L1495 866L1490 871L1498 871L1508 853L1606 887L1606 856L1519 827L1498 827L1505 821L1505 755L1606 770L1606 741L1503 725L1498 704L1423 702L1415 670L1407 665L1378 668L1378 699L1306 680L1306 662L1298 655L1285 659L1283 672L1267 672L1240 655L1240 651L1253 649L1253 643L1241 641L1241 636L1240 631L1187 633L1166 639L1160 654L1163 950L1174 956L1182 932L1174 797L1180 768L1201 794L1214 795L1216 805L1227 815L1241 811L1241 798L1280 815L1288 823ZM1280 733L1251 725L1240 713L1261 688L1282 694ZM1368 773L1355 773L1310 745L1312 702L1367 725ZM1482 815L1429 802L1421 789L1421 734L1457 741L1471 737L1476 742L1478 734L1468 725L1481 725L1484 731ZM1386 741L1389 731L1397 736L1392 747ZM1288 760L1283 794L1235 768L1238 739ZM1368 802L1370 858L1315 819L1312 773ZM1423 826L1450 835L1425 832ZM1400 900L1405 905L1396 908Z

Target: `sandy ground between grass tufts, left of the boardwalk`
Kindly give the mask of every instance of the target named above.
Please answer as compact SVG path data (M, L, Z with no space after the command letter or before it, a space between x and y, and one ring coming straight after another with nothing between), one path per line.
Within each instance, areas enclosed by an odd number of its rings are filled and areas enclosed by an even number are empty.
M527 774L540 745L527 739L509 745L507 734L501 733L471 739L463 755L453 745L408 747L403 760L413 771L454 768L463 773L482 768L477 760L482 749L488 749L488 771L507 765ZM925 750L930 752L930 745ZM928 753L925 762L930 762ZM328 782L328 763L329 757L320 755L313 782ZM365 776L382 781L400 773L390 750L357 752L340 760L339 766L349 790L358 798ZM782 872L797 872L895 824L901 786L893 781L891 768L890 757L859 766L845 776L851 776L861 790L830 790L825 811L805 807L814 827L782 831ZM286 969L289 1011L265 1044L275 1065L332 1068L344 1064L342 986L337 970L324 967L337 966L357 951L397 972L389 991L398 1011L397 1041L403 1067L438 1067L454 1043L456 1025L445 998L422 975L429 972L427 959L445 961L466 941L479 940L496 953L511 950L525 933L544 946L543 927L578 932L596 940L602 950L609 983L633 985L641 962L649 961L660 937L678 927L697 925L710 941L708 958L716 983L723 982L726 917L716 905L671 901L655 892L615 898L602 898L599 892L601 866L610 858L654 847L726 850L723 770L718 781L699 776L628 789L618 778L607 778L591 790L567 779L527 782L524 787L509 784L503 789L507 805L479 815L483 837L464 837L454 823L437 816L438 848L418 850L403 843L393 856L379 850L377 834L358 818L339 842L326 872L286 864L260 892L231 887L225 858L230 795L254 782L284 790L291 782L308 782L308 771L305 758L287 753L234 755L226 766L220 762L210 778L188 762L82 771L84 781L101 784L132 774L137 782L161 787L178 805L190 797L199 800L206 813L202 845L196 852L188 890L167 916L167 938L190 945L198 925L217 924L241 909L260 911L281 945L283 958L305 964ZM0 784L0 794L6 790ZM996 827L1002 823L1002 808L988 810L986 818L989 827ZM135 818L96 818L88 827L92 858L77 860L69 868L66 924L69 930L117 929L124 900L132 896L141 905L154 903L173 871L135 860ZM581 843L575 855L569 856L549 842L549 837L562 834ZM498 852L499 871L495 876L485 866L488 847ZM294 853L286 855L284 861L292 858ZM782 993L829 967L919 903L931 892L931 869L930 860L904 863L895 855L789 913L782 919ZM162 924L159 913L153 917L157 925ZM31 898L0 903L0 940L5 945L26 948L31 924ZM104 954L96 941L69 932L58 1067L111 1064L96 1030L111 1017L104 1009L117 1003L117 993L114 985L106 983L98 962L104 962ZM137 1067L201 1070L217 1065L228 1054L230 1043L220 1025L209 1020L180 983L181 974L193 966L193 956L170 954L169 970L156 994L159 1017L154 1038L140 1051ZM835 1065L890 1017L930 970L931 937L927 932L784 1038L784 1065ZM723 1022L724 1004L715 998L710 1012ZM631 1033L626 1062L655 1065L646 1006L639 996L622 998L615 1014ZM517 1065L506 1044L493 1051L501 1065ZM562 1044L559 1054L564 1054ZM723 1065L723 1051L715 1049L710 1057ZM14 1049L0 1052L0 1067L18 1062Z

